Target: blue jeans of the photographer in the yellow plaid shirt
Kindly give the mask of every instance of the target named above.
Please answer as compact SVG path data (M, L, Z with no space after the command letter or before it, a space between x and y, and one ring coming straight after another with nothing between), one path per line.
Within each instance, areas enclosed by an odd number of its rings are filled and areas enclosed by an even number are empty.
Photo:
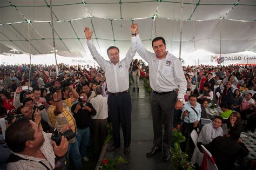
M79 147L77 143L77 139L75 137L75 142L70 143L68 147L68 153L66 154L66 170L68 170L69 166L69 157L73 162L74 169L83 169L82 162L81 162L81 155L79 153Z

